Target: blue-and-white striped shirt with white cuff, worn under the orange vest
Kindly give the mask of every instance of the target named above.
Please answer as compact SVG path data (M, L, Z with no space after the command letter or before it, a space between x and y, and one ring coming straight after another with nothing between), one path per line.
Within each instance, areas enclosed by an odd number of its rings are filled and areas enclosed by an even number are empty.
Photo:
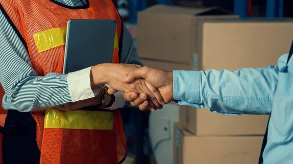
M86 4L86 0L55 1L72 7ZM5 90L2 103L4 109L17 109L22 112L49 109L94 96L92 93L82 96L91 90L90 69L65 75L49 73L38 76L21 39L2 12L0 12L0 83ZM141 65L133 49L132 37L125 26L120 41L122 42L120 63ZM84 81L81 82L81 79ZM81 83L86 85L81 87Z

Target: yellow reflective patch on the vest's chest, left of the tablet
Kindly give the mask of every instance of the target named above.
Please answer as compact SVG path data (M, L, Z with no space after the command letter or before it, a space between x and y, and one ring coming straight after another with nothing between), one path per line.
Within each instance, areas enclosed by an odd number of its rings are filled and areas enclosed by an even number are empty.
M53 28L34 34L38 52L65 45L67 28Z

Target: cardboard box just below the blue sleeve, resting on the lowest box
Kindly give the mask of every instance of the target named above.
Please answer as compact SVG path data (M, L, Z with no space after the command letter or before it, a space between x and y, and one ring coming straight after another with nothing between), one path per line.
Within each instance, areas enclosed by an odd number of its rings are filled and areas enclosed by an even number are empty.
M180 123L197 136L263 135L268 115L222 115L209 109L182 108Z

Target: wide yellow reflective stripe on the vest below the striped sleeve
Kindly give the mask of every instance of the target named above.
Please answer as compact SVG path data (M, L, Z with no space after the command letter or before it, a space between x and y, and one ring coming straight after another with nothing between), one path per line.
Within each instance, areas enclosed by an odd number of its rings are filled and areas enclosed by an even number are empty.
M112 112L47 109L44 128L112 130L113 124Z

